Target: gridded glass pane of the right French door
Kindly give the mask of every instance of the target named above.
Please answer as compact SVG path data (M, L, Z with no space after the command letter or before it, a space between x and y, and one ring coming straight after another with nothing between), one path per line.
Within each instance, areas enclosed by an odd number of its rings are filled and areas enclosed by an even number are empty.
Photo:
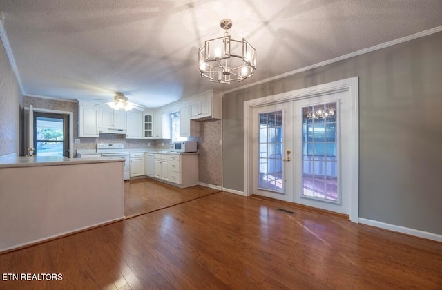
M339 202L337 103L302 108L302 196Z

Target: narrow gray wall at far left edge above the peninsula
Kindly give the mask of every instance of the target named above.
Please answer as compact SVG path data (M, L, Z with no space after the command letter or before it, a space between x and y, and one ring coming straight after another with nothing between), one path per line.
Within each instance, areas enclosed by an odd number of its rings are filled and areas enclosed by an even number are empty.
M19 84L0 40L0 157L19 154L21 100Z

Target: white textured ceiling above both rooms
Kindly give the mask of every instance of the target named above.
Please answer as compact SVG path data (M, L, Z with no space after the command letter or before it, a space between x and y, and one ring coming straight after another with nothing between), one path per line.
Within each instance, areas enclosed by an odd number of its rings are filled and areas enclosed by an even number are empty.
M441 0L0 0L0 10L26 95L108 101L121 91L148 107L442 26ZM223 35L224 18L258 51L239 84L199 75L198 48Z

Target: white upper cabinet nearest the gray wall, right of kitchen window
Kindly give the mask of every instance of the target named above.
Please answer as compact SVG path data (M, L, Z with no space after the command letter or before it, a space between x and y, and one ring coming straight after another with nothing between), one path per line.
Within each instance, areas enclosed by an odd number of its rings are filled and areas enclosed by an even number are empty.
M222 118L222 94L213 90L191 97L190 118L198 121Z

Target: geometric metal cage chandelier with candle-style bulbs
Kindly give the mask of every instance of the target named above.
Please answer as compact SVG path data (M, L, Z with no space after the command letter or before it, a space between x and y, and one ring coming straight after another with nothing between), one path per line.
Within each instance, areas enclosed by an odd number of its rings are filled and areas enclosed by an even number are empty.
M220 26L224 36L205 41L198 53L201 77L221 84L244 81L256 70L256 49L245 39L231 39L227 32L232 27L230 19L223 19Z

